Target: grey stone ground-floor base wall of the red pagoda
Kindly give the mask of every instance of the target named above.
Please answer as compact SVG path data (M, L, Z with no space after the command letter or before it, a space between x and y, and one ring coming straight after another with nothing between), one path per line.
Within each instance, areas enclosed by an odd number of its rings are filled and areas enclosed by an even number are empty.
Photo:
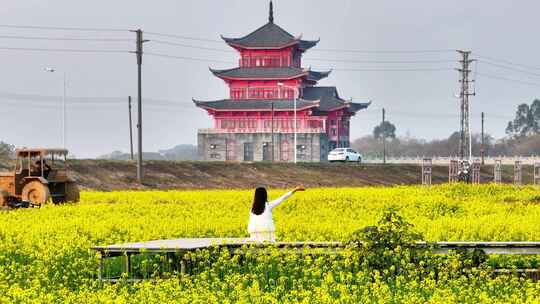
M252 154L253 161L271 161L271 146L271 133L212 133L202 130L198 133L201 160L244 161L245 156ZM298 133L297 146L299 162L321 162L328 158L328 139L324 133ZM250 147L252 153L246 151ZM294 134L275 133L273 150L274 161L294 161ZM266 159L263 159L264 154Z

